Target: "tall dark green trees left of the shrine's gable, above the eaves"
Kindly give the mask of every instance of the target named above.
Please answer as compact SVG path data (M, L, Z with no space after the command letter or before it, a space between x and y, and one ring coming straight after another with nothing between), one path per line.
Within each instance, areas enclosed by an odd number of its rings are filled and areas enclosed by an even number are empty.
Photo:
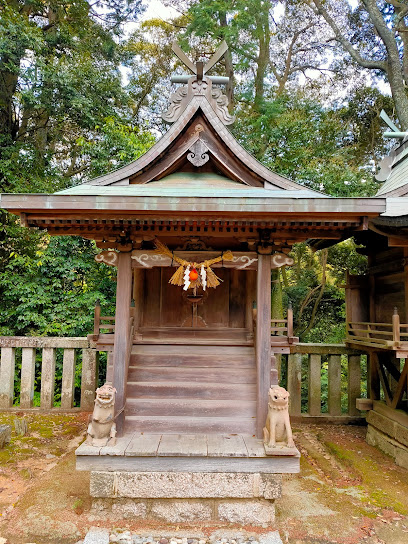
M100 127L129 124L132 107L119 70L120 42L122 23L140 13L141 2L1 4L0 190L64 188L73 176L93 175L96 155L101 168L114 160L112 130ZM132 130L140 154L151 136L143 127ZM92 154L78 146L81 139L93 140ZM135 148L134 137L126 145L122 138L125 147ZM122 160L135 155L125 154Z

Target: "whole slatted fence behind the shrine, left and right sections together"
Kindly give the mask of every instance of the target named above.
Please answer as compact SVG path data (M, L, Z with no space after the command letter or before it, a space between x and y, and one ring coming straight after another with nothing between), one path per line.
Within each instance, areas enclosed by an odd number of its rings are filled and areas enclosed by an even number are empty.
M86 338L0 337L0 348L0 409L32 409L36 384L36 389L39 385L41 389L36 410L93 409L99 353L90 349ZM291 350L291 355L281 356L281 383L289 390L290 412L295 419L338 423L361 419L355 399L366 391L366 357L362 352L343 344L296 344ZM57 352L62 360L58 403L54 400ZM79 406L73 408L78 355L82 356L81 392ZM16 372L17 366L21 372ZM15 380L20 390L17 406Z

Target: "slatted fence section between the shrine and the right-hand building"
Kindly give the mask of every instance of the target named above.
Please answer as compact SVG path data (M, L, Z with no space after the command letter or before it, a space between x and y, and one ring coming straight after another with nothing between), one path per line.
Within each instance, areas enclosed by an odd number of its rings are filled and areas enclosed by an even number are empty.
M313 422L362 419L356 399L367 392L367 357L344 344L296 344L282 356L281 385L290 414Z

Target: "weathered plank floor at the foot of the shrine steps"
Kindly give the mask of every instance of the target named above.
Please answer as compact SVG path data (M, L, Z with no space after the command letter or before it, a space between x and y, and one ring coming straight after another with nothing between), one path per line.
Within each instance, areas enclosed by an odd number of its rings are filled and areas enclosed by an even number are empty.
M238 434L127 433L115 446L83 443L78 470L299 472L299 452L267 456L261 439Z

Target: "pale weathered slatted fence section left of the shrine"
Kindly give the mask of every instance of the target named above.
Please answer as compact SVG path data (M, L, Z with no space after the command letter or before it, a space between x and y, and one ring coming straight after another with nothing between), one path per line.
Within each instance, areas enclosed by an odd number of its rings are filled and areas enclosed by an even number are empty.
M89 348L86 338L1 336L0 348L0 409L11 409L15 406L15 385L20 391L20 402L17 405L20 409L33 408L35 389L40 389L40 406L36 409L73 409L76 362L80 356L80 402L76 409L92 411L99 353ZM58 358L62 358L62 377L59 384L61 398L58 403L54 400L57 353Z

